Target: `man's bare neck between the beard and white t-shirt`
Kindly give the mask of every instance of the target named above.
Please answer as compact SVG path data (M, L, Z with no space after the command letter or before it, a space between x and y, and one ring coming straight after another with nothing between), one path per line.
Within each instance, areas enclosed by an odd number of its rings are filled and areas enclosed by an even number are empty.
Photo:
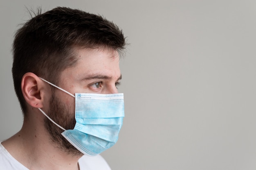
M22 129L2 145L29 169L79 170L78 159L82 154L74 156L59 149L42 127L24 120Z

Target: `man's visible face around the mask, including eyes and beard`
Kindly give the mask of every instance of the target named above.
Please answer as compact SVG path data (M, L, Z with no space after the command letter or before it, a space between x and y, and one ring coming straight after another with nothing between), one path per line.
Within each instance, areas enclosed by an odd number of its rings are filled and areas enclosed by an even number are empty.
M121 80L119 56L110 49L77 50L77 64L65 69L60 75L58 86L72 94L75 93L117 93ZM75 126L75 98L56 89L49 101L50 118L65 129ZM45 118L45 128L58 148L73 155L81 155L62 135L62 129Z

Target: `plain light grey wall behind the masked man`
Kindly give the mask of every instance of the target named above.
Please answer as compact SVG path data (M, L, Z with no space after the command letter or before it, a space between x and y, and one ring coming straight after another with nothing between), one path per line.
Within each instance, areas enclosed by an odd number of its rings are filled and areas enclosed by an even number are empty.
M128 37L113 170L256 169L255 0L1 0L0 139L22 125L11 43L38 6L99 13Z

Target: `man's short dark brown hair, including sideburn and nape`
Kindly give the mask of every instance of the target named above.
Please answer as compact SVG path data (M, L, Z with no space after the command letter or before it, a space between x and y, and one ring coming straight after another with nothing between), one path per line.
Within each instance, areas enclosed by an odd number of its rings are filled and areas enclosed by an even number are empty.
M102 16L67 7L45 13L39 9L34 14L13 41L13 83L25 115L20 87L25 73L33 72L58 84L60 73L76 64L74 48L110 48L123 54L126 46L122 31Z

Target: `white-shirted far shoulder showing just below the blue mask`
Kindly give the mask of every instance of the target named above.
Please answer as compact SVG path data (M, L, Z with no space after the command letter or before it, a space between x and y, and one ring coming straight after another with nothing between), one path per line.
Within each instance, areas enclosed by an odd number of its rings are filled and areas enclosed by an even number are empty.
M111 170L101 155L95 157L83 155L78 162L80 170Z

